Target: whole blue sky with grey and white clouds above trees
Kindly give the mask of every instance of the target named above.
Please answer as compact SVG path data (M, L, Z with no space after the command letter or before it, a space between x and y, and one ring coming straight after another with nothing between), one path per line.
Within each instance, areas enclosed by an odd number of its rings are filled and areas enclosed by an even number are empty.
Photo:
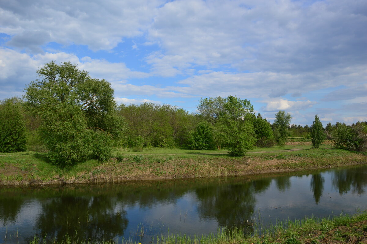
M367 121L366 0L0 0L0 45L0 99L70 61L118 103L232 95L270 122Z

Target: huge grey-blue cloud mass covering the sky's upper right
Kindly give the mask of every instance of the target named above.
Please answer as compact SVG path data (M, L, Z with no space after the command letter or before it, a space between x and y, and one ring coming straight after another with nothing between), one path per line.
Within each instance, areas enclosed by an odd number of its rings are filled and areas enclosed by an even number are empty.
M365 65L364 7L361 0L308 6L302 1L172 1L158 10L148 30L165 51L151 62L169 65L178 55L181 66L228 63L252 72L290 73Z

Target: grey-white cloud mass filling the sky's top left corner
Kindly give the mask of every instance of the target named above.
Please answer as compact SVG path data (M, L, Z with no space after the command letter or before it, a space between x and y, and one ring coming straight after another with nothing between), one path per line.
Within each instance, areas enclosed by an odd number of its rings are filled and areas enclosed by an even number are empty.
M19 48L33 49L34 45L55 41L109 50L124 37L142 35L163 3L161 0L4 1L0 8L3 23L0 32L12 35L8 45Z

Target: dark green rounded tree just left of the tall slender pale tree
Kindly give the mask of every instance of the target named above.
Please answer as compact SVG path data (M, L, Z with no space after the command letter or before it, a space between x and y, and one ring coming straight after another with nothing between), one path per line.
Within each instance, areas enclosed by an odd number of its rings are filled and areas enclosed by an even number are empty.
M273 130L269 122L259 116L254 120L254 132L256 137L256 146L272 147L274 146Z

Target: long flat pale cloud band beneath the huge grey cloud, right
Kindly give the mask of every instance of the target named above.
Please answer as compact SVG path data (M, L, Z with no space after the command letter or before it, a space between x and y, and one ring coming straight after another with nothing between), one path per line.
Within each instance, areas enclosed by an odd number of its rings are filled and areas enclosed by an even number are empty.
M361 72L363 79L365 69ZM367 73L366 73L367 74ZM211 72L190 76L178 81L183 87L175 87L176 91L198 96L228 96L237 95L241 98L276 98L286 94L300 94L328 88L346 82L348 73L330 77L329 74L315 73L291 74L277 72L229 73ZM358 79L359 80L359 79ZM348 81L353 84L353 80Z

